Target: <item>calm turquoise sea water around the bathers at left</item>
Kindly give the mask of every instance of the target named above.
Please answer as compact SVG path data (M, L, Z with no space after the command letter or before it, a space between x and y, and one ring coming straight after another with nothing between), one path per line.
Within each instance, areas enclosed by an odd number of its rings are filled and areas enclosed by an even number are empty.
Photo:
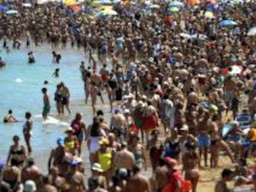
M35 64L27 63L28 51L34 52ZM46 87L51 96L50 115L56 115L54 91L56 90L56 84L60 81L64 81L69 87L72 101L85 98L79 71L80 62L85 59L82 50L59 49L58 52L62 54L61 64L59 65L52 64L51 51L49 45L44 45L39 48L12 50L10 53L0 52L0 56L7 64L5 69L0 70L0 118L6 115L9 109L13 110L14 116L19 120L24 119L26 111L32 112L34 123L33 154L48 154L49 150L56 145L56 138L63 135L65 129L64 126L60 125L43 125L41 119L36 118L41 114L43 106L43 96L41 94L41 88L44 86L43 81L49 81L49 85ZM57 67L60 68L60 78L52 77ZM72 113L71 117L74 116L75 111L72 111ZM91 115L87 115L88 120L89 117ZM66 122L69 123L70 118ZM12 144L13 135L19 135L23 143L22 123L8 125L0 123L0 128L0 157L6 158L9 146Z

